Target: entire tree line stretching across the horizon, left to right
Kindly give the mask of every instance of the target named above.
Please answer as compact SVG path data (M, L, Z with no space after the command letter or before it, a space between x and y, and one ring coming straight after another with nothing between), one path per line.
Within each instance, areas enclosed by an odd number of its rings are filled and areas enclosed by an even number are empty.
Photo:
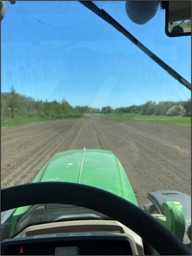
M88 106L72 107L64 98L61 102L56 100L51 102L47 100L45 102L42 100L36 101L31 97L16 93L13 86L9 93L1 93L1 120L16 116L81 117L84 113L191 116L191 99L188 101L162 101L159 103L148 101L140 106L133 105L129 107L117 107L116 109L106 106L100 110L100 108Z

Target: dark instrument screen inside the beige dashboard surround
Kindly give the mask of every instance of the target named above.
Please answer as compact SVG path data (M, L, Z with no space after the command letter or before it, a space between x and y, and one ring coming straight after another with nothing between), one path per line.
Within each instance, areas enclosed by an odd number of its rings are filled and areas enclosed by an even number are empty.
M1 255L133 255L126 236L71 233L22 239L7 239Z

